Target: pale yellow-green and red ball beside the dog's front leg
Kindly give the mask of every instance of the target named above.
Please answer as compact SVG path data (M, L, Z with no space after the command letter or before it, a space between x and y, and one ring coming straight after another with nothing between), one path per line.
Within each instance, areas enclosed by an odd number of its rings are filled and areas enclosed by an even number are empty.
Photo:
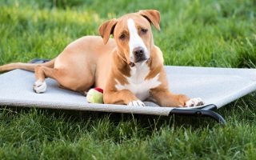
M103 90L101 88L92 88L86 95L87 102L103 103Z

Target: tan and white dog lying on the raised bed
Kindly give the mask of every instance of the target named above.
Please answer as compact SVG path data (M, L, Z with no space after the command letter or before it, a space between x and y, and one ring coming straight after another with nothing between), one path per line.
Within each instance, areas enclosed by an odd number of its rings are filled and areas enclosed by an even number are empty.
M79 38L50 62L11 63L0 66L0 71L34 71L36 93L46 91L45 78L54 78L61 87L78 92L100 87L104 103L109 104L145 106L142 101L147 99L160 106L202 105L201 98L170 92L162 51L154 46L150 27L160 30L159 23L158 10L125 14L104 22L98 29L101 37Z

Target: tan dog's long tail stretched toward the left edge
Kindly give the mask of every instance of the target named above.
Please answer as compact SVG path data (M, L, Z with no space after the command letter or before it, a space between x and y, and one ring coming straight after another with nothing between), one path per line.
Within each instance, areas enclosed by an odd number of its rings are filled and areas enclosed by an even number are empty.
M54 62L55 62L55 58L50 60L49 62L44 62L44 63L40 63L40 64L14 62L14 63L10 63L10 64L0 66L0 73L10 71L10 70L15 70L15 69L34 71L34 68L38 65L48 66L50 68L53 68L54 67Z

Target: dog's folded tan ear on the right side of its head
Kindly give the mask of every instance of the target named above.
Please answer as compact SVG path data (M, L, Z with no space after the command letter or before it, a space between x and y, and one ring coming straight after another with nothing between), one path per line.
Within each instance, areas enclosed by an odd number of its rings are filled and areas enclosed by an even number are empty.
M157 30L160 30L160 12L158 10L139 10L138 14L145 17Z

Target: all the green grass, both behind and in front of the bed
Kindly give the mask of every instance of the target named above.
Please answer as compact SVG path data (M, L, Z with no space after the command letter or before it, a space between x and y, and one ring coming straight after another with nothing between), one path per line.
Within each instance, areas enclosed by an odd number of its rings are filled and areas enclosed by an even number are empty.
M143 9L161 11L154 42L166 65L256 68L253 0L0 2L0 65L54 58L98 26ZM1 96L1 95L0 95ZM256 93L208 118L158 118L0 108L0 159L254 159Z

